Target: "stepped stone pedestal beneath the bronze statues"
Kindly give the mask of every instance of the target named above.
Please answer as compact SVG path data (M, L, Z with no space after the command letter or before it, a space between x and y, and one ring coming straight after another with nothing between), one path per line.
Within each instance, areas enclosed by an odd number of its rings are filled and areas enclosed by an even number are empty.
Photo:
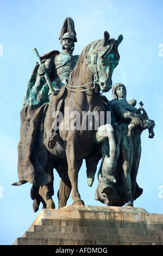
M14 245L163 245L163 215L113 206L43 209Z

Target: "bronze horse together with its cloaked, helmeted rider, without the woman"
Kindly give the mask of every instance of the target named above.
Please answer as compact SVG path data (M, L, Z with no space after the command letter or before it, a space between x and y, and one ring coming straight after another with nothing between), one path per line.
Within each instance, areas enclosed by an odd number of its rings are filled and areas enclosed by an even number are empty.
M19 181L12 185L33 184L34 211L39 209L40 202L43 208L55 208L53 169L61 177L59 208L66 205L71 190L73 204L84 205L78 192L78 172L83 159L89 163L95 146L106 138L111 161L116 152L114 130L106 123L106 109L100 92L111 89L112 72L120 60L118 46L123 36L115 40L105 31L102 40L93 41L80 56L73 56L76 35L74 22L67 17L59 35L62 52L52 51L41 56L26 88L18 143ZM70 115L67 115L67 109ZM55 113L62 113L58 126ZM78 115L76 122L73 113ZM93 116L92 122L89 122L89 116ZM78 123L77 129L74 123ZM87 170L90 186L93 176ZM66 196L62 195L62 189Z

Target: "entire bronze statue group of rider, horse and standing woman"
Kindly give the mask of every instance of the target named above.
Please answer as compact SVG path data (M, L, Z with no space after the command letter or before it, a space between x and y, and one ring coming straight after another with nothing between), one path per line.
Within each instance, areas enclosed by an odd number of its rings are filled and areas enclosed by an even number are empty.
M109 92L112 73L120 60L115 40L104 32L102 40L87 45L80 56L73 56L77 34L74 22L67 17L59 34L62 51L51 51L39 57L39 63L30 76L21 109L21 133L18 143L18 178L13 185L33 184L31 198L36 212L55 208L52 196L53 169L61 177L58 192L59 208L66 205L72 190L77 205L84 205L78 192L78 172L85 159L87 184L92 186L97 164L99 184L95 199L106 205L133 206L142 193L136 175L141 156L141 132L149 130L154 137L154 121L145 109L135 108L135 100L127 102L126 87L116 83L112 88L114 99L108 101L100 92ZM111 111L111 124L98 129L55 129L53 113L60 111L62 124L70 125L66 108L70 112L94 113ZM142 113L143 112L143 113ZM106 120L106 118L105 118ZM95 125L95 124L94 124ZM64 126L65 127L65 126Z

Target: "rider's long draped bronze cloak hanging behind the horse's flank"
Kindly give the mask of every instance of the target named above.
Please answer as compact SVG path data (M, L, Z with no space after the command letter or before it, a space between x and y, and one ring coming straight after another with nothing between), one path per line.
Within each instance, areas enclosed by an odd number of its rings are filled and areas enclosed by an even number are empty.
M44 63L48 58L54 58L58 51L41 56ZM49 184L53 181L53 172L46 172L48 153L43 145L43 119L49 100L49 88L45 80L37 75L36 66L30 76L20 112L21 130L18 143L18 180L30 182L35 186Z

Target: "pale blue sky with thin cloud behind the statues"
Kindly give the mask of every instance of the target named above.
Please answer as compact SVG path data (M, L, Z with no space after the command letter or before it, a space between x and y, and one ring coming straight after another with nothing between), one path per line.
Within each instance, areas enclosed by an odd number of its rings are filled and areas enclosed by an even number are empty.
M142 133L142 155L137 183L143 194L134 206L150 213L163 214L162 179L162 110L163 110L163 36L162 0L1 0L0 1L0 245L12 245L35 220L32 209L31 184L11 186L18 180L17 144L20 139L20 110L27 82L36 63L33 48L40 55L60 51L58 39L62 22L74 20L77 43L74 54L80 54L91 41L102 39L104 31L117 38L120 63L112 82L127 87L127 100L143 101L150 119L155 120L155 137ZM162 44L162 45L161 45ZM161 47L161 48L159 48ZM105 93L112 99L111 91ZM93 186L86 184L85 165L79 172L79 192L86 205L102 205L94 200L97 175ZM58 208L59 178L54 171L53 197ZM72 199L68 200L72 204Z

